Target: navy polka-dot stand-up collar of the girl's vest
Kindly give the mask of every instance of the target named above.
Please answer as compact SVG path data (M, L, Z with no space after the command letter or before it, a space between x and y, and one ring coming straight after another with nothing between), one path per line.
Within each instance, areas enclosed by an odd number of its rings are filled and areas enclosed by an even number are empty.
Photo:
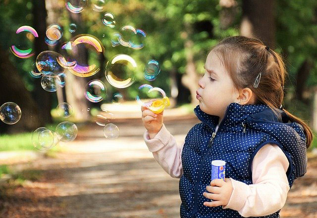
M215 130L215 127L219 122L218 116L203 112L199 105L196 106L194 112L201 122L209 126L211 130ZM249 117L249 119L279 123L287 123L289 121L288 116L284 111L277 109L277 114L278 115L276 116L273 111L265 104L240 105L238 103L232 102L227 106L224 118L219 124L218 130L221 131L221 129L238 126L243 121L245 121L247 117Z

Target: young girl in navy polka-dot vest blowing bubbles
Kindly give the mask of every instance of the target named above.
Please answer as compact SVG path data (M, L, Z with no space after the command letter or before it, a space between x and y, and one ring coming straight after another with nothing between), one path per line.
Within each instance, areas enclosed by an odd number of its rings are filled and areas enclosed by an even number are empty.
M312 131L282 108L286 70L260 40L229 37L208 54L194 109L201 123L177 146L142 107L144 140L155 160L180 178L181 218L279 218L287 193L306 173ZM211 181L211 161L226 162Z

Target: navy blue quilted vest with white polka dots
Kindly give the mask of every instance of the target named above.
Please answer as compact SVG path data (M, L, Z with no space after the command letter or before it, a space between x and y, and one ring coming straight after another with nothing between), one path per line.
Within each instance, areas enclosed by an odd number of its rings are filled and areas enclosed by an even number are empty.
M183 175L179 181L181 218L242 217L237 211L222 209L222 206L203 205L205 201L211 201L203 196L203 192L211 182L213 160L226 162L226 178L252 184L253 158L262 146L274 143L282 149L290 163L286 173L290 187L294 179L306 173L304 129L295 122L289 122L284 111L276 110L277 116L264 104L231 103L215 132L219 117L204 113L199 105L194 109L202 123L188 132L182 151ZM278 217L279 211L263 218Z

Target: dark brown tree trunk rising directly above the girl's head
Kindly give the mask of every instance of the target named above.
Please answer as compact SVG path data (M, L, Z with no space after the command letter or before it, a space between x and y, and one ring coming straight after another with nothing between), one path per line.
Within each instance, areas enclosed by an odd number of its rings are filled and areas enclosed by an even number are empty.
M274 0L243 0L241 35L257 37L265 45L275 45Z

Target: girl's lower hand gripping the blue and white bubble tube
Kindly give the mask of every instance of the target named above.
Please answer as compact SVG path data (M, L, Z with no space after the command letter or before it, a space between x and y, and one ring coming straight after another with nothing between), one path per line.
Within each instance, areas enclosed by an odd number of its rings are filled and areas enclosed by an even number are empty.
M233 191L232 182L229 178L213 179L210 183L211 186L206 186L208 192L204 192L203 195L206 198L212 200L212 202L204 202L207 207L217 207L220 205L227 205Z

